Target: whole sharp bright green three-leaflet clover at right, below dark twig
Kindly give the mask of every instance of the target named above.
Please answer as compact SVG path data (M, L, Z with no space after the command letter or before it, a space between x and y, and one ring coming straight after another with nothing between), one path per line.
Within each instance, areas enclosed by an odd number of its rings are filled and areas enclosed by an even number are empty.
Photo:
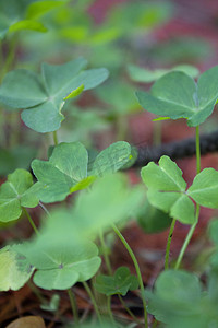
M168 156L162 156L159 166L154 162L142 168L142 179L148 187L148 201L178 221L195 222L195 208L191 198L199 206L217 209L218 172L205 168L186 190L182 171Z

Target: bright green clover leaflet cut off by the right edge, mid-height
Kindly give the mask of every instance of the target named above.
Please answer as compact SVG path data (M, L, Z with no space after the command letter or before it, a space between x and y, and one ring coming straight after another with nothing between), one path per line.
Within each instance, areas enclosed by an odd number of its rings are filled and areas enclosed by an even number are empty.
M203 207L218 208L218 172L214 168L205 168L196 175L187 195Z

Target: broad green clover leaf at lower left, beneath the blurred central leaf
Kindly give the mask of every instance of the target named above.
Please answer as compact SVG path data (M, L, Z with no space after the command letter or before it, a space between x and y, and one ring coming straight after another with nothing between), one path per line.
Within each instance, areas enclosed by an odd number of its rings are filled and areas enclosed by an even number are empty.
M57 230L56 224L50 231L43 229L39 236L13 247L36 268L34 282L46 290L66 290L78 281L86 281L101 262L97 246L73 238L68 218L61 219L61 229ZM63 221L66 221L65 226Z

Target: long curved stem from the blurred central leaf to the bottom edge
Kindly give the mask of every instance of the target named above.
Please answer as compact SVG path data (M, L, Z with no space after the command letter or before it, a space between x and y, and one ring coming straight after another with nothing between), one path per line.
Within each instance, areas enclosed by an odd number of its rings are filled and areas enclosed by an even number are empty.
M138 280L138 283L140 283L142 301L143 301L143 307L144 307L145 328L148 328L147 309L146 309L147 304L146 304L146 301L145 301L144 284L143 284L143 279L142 279L142 274L141 274L141 270L140 270L137 259L136 259L134 253L132 251L130 245L128 244L128 242L125 241L125 238L123 237L121 232L118 230L118 227L114 224L112 224L112 229L113 229L114 233L118 235L118 237L120 238L121 243L126 248L126 250L130 254L130 257L132 258L132 261L135 266L135 271L136 271L137 280Z

